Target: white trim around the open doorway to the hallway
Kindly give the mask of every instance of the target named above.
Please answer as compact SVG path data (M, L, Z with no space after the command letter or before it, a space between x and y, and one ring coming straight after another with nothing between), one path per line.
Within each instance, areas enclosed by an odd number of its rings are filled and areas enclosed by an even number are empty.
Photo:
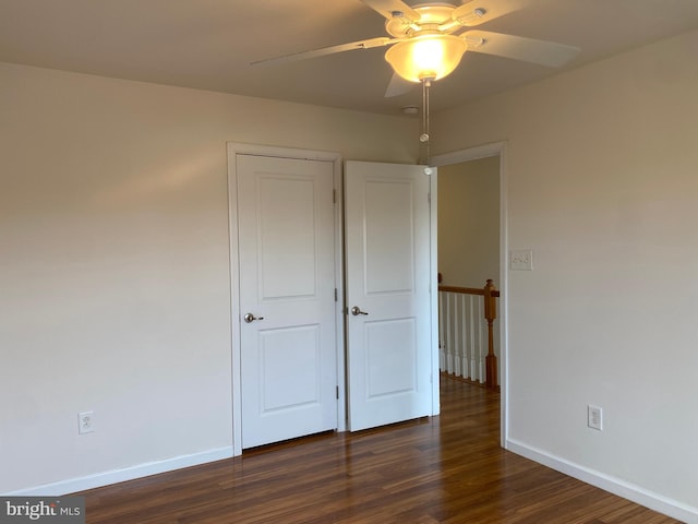
M467 150L444 153L431 158L433 166L448 166L452 164L460 164L462 162L477 160L489 156L500 157L500 290L502 298L500 299L500 371L502 373L502 391L501 402L501 420L502 430L500 441L503 448L507 448L508 428L509 428L509 410L508 410L508 361L509 361L509 344L508 344L508 302L509 302L509 284L508 284L508 213L506 199L506 165L507 165L507 144L506 142L493 142L491 144L478 145ZM435 191L432 193L435 194ZM432 196L433 199L433 196Z

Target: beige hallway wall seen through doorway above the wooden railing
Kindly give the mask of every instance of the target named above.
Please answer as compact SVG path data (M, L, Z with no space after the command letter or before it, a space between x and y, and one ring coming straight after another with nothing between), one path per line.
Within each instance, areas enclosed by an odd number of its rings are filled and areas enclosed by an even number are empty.
M438 168L438 271L448 286L498 281L497 156Z

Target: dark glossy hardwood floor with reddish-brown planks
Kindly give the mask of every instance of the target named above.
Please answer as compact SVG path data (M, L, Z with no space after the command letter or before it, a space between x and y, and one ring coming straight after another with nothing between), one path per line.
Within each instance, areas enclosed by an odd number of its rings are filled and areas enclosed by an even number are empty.
M500 448L497 393L442 378L442 415L85 491L88 524L670 524Z

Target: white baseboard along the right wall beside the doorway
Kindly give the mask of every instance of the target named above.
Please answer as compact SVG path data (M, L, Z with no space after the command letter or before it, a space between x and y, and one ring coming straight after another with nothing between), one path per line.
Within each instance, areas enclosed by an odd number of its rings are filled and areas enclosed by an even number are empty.
M663 513L687 524L698 524L698 508L693 508L634 484L626 483L625 480L551 455L543 450L539 450L516 439L507 439L506 449L552 469L564 473L565 475L601 488L604 491L631 500L650 510L658 511L659 513Z

